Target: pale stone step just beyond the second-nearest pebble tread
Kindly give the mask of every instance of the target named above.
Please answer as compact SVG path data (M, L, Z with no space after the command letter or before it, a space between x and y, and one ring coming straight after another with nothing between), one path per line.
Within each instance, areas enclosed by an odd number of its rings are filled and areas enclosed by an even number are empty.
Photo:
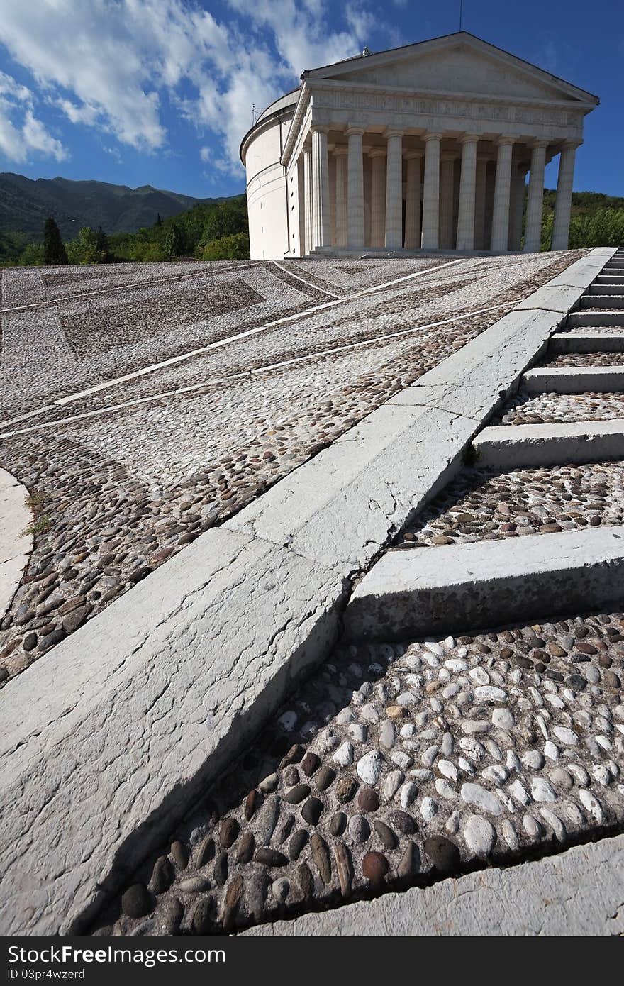
M497 425L472 443L479 468L520 469L624 458L624 419Z

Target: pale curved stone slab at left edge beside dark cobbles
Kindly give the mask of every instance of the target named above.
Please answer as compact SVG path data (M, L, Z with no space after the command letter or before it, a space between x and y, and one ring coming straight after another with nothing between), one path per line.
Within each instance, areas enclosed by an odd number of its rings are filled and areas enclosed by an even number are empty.
M0 469L0 618L11 604L33 550L33 534L27 531L33 521L28 495L26 486Z

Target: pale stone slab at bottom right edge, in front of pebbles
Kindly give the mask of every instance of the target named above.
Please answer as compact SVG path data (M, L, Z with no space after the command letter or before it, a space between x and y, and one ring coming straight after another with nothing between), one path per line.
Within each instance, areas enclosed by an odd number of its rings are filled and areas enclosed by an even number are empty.
M624 935L624 835L243 932L254 938Z

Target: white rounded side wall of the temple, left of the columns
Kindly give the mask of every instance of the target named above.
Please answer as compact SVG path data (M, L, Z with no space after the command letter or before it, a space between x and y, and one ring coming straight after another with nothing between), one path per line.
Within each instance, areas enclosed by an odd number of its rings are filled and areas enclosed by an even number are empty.
M249 250L252 260L278 260L289 252L289 212L282 149L297 96L268 106L243 138Z

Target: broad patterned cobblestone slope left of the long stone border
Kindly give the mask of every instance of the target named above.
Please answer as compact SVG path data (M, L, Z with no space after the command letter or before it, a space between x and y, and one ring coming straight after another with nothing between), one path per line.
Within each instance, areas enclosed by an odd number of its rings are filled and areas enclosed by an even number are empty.
M0 464L35 549L0 680L579 255L5 269Z

